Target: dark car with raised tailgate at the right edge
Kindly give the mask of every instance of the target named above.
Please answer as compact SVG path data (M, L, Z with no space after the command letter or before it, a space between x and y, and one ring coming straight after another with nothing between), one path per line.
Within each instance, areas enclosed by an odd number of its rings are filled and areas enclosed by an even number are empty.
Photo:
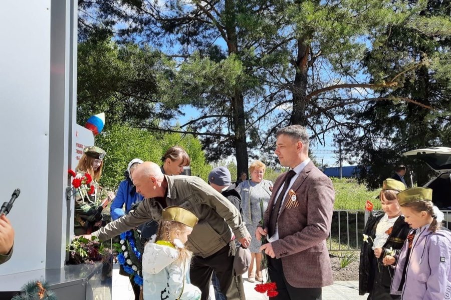
M432 178L423 187L432 188L432 201L441 210L451 210L451 148L431 147L411 150L404 156L418 158L427 163L435 171ZM443 211L444 220L448 228L451 226L451 212Z

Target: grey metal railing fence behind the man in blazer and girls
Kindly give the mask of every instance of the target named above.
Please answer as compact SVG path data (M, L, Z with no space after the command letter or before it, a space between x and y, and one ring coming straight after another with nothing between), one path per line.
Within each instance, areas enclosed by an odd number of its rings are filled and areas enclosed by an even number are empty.
M451 229L451 210L441 211L444 213L443 225ZM334 210L327 239L329 251L360 251L368 216L369 212L364 209Z

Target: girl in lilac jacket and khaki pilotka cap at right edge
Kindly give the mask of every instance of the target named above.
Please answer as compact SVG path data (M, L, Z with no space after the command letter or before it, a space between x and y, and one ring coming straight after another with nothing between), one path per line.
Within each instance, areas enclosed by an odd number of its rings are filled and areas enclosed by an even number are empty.
M412 227L396 263L391 293L404 300L451 299L451 232L441 226L443 213L432 203L432 189L414 187L398 194L405 221Z

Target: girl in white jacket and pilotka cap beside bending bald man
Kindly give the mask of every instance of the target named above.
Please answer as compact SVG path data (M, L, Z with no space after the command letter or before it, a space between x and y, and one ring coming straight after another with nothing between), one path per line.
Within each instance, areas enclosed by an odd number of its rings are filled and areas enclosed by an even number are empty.
M191 252L184 247L197 221L197 217L183 207L163 209L156 237L144 247L144 300L200 299L200 289L189 279Z

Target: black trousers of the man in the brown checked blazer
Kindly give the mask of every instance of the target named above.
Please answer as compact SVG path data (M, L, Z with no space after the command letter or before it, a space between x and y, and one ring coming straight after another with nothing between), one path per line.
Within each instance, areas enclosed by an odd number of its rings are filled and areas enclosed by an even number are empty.
M279 294L271 300L321 300L321 287L294 287L291 286L284 275L282 260L268 258L268 272L271 281L276 282Z

